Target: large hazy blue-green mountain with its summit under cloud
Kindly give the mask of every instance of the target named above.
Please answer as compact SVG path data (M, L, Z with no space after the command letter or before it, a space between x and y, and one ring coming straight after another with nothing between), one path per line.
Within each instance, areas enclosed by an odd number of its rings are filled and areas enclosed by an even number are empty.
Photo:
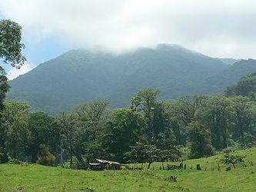
M7 99L27 101L34 111L49 114L98 98L109 99L112 108L126 107L129 98L145 87L160 89L161 99L219 93L218 78L232 84L246 73L247 65L236 77L232 71L239 68L179 45L161 44L122 54L78 49L10 81Z

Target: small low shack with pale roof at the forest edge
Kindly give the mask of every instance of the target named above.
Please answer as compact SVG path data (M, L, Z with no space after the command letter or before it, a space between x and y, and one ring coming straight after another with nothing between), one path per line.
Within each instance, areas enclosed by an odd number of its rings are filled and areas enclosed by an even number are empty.
M91 170L121 170L121 165L115 161L95 159L93 163L89 163Z

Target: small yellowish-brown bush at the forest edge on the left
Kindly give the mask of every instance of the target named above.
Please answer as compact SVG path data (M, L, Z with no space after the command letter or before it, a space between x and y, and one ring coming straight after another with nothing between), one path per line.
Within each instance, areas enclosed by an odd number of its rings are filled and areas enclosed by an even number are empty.
M45 144L40 144L38 152L37 164L42 164L46 166L53 166L56 161L56 157L50 153L48 147Z

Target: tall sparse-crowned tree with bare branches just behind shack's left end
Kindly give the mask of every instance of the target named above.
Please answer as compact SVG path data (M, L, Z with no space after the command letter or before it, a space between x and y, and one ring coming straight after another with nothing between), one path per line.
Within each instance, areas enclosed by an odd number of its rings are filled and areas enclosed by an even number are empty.
M93 161L95 158L108 157L102 141L105 134L105 124L110 119L108 111L109 102L106 100L95 100L76 106L71 113L75 115L75 125L81 135L81 146L77 157L83 163Z

